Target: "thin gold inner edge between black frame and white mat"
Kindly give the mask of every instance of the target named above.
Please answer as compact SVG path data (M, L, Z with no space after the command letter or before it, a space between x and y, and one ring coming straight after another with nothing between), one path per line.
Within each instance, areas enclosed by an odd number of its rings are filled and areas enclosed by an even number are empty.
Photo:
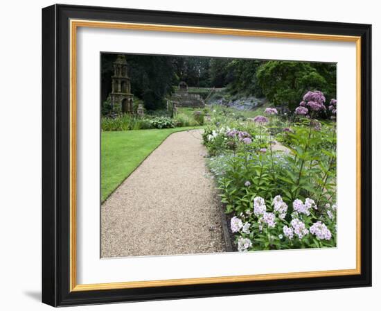
M281 280L292 278L315 278L324 276L348 276L361 274L361 37L346 35L324 35L317 33L290 33L281 31L256 31L234 28L212 28L173 26L161 24L138 24L122 22L100 22L95 20L70 20L70 292L127 289L139 287L161 287L175 285L197 285L213 283L248 282L254 280ZM356 268L328 271L305 271L278 274L254 274L245 276L218 276L209 278L181 278L170 280L144 280L118 283L77 284L77 240L76 240L76 34L78 27L115 28L139 31L166 31L176 33L205 33L215 35L240 35L247 37L276 37L299 40L324 40L355 42L356 44Z

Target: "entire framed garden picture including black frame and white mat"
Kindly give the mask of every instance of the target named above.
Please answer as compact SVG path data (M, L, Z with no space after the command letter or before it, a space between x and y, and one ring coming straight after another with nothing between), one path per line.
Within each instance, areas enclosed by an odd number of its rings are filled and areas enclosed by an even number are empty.
M42 10L42 301L371 286L371 25Z

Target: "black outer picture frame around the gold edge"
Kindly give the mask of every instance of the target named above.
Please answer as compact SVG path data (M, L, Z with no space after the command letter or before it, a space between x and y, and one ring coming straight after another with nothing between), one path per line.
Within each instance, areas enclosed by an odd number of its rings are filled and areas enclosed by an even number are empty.
M361 37L361 274L130 289L70 290L69 20ZM371 25L53 5L42 9L42 302L84 305L371 286Z

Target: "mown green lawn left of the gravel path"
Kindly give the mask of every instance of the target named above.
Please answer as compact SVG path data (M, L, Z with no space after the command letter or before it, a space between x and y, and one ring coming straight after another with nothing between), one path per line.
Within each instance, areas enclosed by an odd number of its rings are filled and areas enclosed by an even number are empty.
M107 197L168 135L201 128L165 128L161 130L115 131L101 134L101 197Z

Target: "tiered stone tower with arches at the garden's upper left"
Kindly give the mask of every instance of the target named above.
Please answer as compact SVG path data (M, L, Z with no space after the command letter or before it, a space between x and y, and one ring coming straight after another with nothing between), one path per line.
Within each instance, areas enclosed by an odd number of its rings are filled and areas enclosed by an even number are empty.
M112 76L111 107L113 112L130 113L133 111L134 95L131 94L130 77L127 74L127 61L124 55L118 55L114 62Z

